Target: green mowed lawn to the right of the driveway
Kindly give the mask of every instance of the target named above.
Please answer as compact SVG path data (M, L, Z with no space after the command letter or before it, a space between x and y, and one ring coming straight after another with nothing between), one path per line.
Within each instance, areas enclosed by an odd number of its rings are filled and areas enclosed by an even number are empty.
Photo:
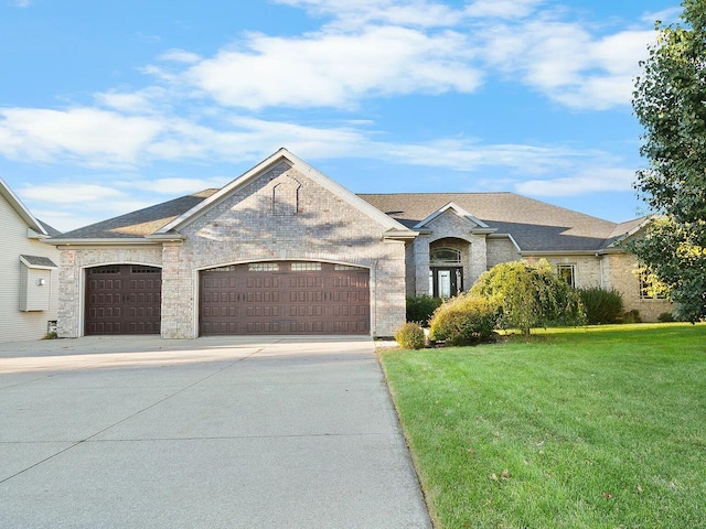
M706 325L381 359L436 527L706 527Z

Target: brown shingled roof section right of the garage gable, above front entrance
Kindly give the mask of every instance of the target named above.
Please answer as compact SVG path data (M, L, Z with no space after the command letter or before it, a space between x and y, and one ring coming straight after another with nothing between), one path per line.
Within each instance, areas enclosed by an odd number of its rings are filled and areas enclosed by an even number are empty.
M512 236L524 252L598 251L620 226L515 193L395 193L361 194L361 198L408 227L417 226L453 203L496 235ZM634 223L634 222L633 222ZM623 223L625 227L631 223Z

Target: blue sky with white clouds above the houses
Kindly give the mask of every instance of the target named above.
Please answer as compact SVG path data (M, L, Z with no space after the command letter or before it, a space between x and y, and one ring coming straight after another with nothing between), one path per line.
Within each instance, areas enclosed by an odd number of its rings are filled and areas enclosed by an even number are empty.
M73 229L286 147L355 193L512 191L614 222L666 0L0 0L0 176ZM471 212L472 213L472 212Z

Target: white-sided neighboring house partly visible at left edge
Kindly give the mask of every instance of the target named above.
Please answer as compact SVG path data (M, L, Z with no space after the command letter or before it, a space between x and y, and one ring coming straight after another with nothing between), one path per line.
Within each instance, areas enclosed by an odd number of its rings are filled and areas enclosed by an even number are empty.
M0 342L39 339L56 322L60 252L42 239L58 231L38 220L0 179Z

